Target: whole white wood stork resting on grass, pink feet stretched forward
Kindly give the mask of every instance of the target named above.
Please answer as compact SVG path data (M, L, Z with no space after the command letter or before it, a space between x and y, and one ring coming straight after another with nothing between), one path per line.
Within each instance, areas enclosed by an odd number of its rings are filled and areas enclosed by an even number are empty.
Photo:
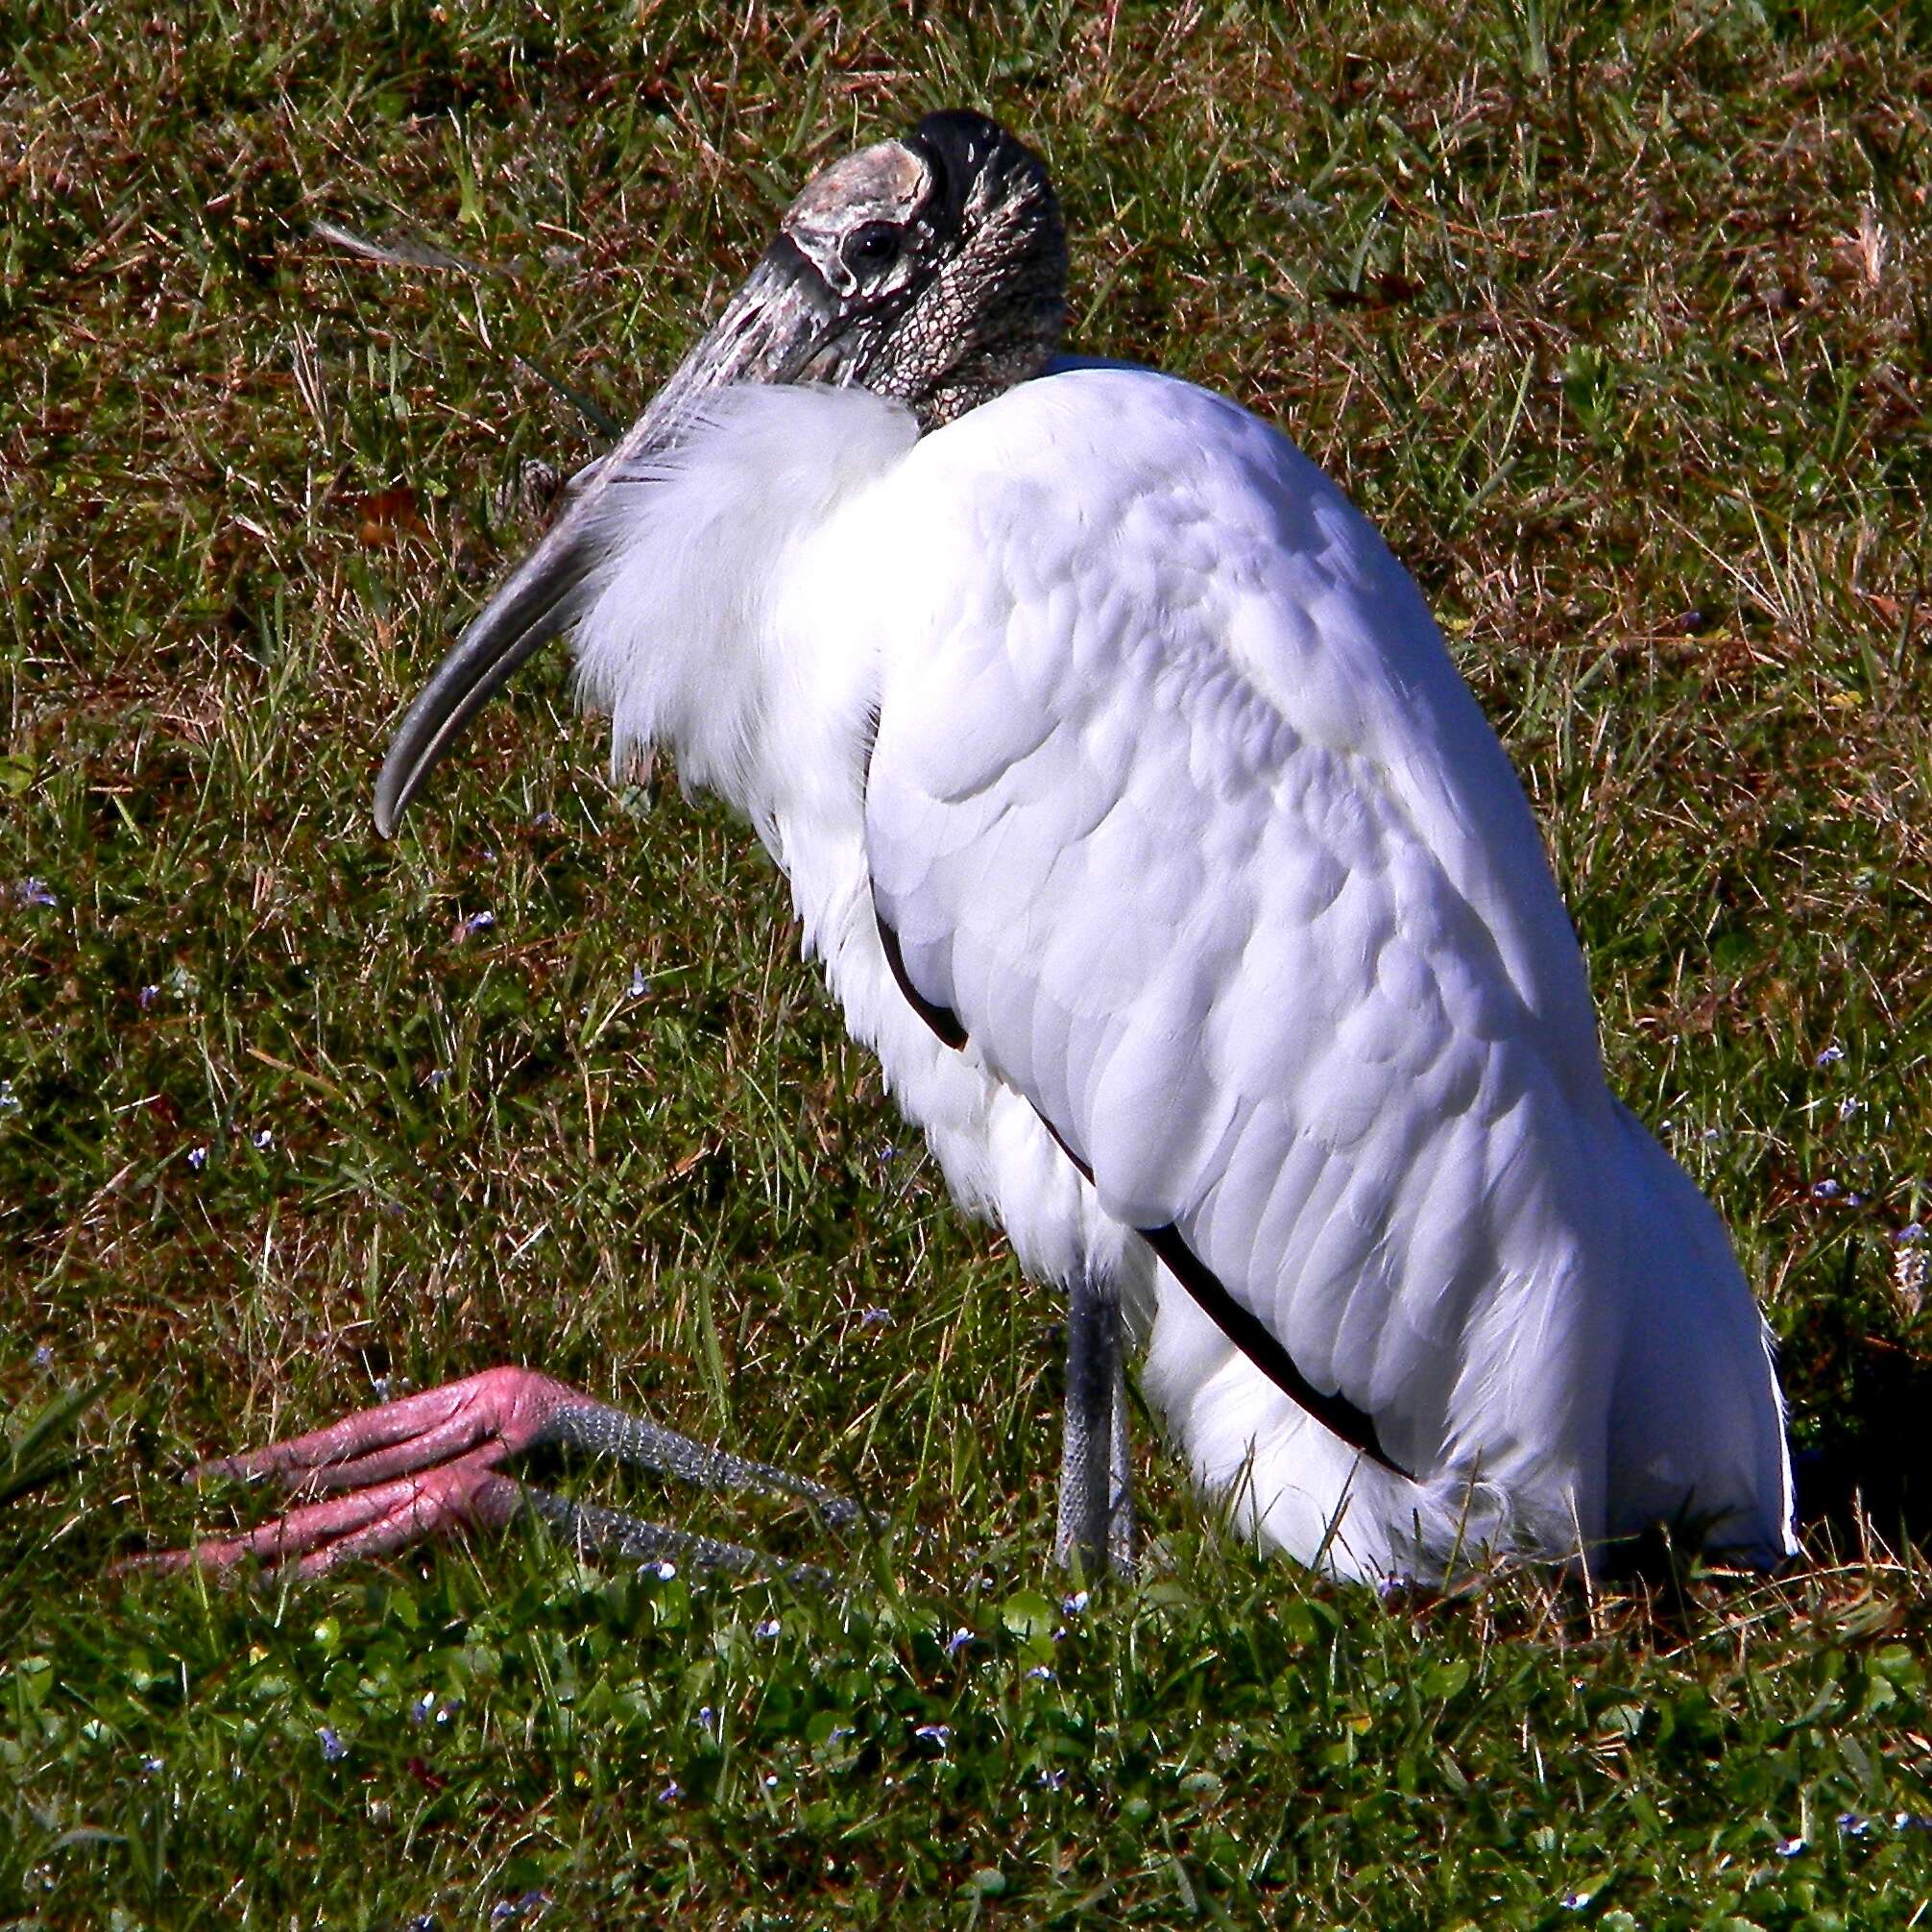
M379 829L566 632L616 753L667 744L750 817L954 1196L1070 1296L1063 1559L1132 1561L1124 1331L1196 1476L1341 1577L1669 1519L1776 1563L1768 1331L1605 1088L1422 597L1275 429L1055 359L1065 259L1043 166L976 114L819 174L417 697ZM344 1493L176 1561L497 1519L504 1457L558 1437L838 1509L495 1370L236 1459Z

